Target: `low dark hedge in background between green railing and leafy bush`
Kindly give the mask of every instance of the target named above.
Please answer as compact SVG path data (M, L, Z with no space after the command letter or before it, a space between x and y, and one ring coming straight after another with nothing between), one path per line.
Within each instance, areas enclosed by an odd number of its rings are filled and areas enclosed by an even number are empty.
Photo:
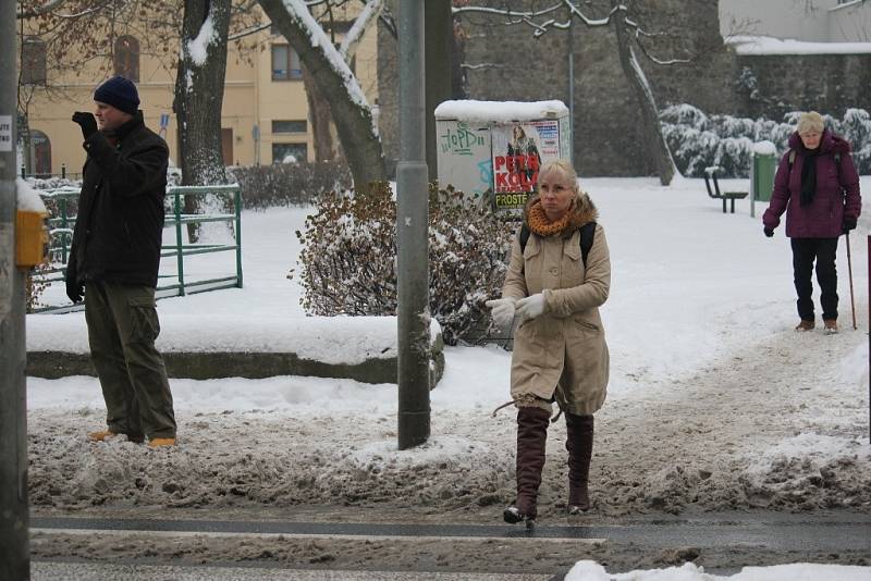
M340 161L235 166L228 173L242 186L243 206L255 210L314 203L321 191L352 184L347 164Z

